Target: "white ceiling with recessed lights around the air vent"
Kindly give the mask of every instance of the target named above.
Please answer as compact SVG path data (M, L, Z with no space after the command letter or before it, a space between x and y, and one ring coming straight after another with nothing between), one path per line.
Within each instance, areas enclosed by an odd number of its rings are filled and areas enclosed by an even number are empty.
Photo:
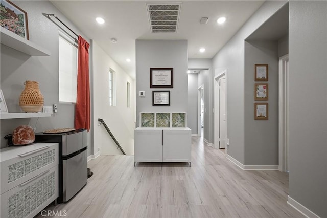
M188 58L212 58L264 1L181 2L177 33L151 33L146 3L175 1L51 1L87 37L93 39L126 73L135 78L136 39L186 39ZM96 17L105 23L96 23ZM226 17L223 25L217 19ZM208 17L206 25L200 18ZM60 18L60 17L59 17ZM116 38L117 43L112 43ZM199 49L205 48L204 53ZM126 59L131 62L126 62Z

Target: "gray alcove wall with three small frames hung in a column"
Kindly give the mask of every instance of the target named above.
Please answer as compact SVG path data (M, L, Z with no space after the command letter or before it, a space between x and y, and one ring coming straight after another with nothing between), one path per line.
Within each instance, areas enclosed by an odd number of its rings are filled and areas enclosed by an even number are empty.
M245 165L278 165L278 41L245 41ZM254 81L254 64L268 64L268 81ZM268 83L268 101L254 101L254 84ZM268 120L254 120L254 103L268 103Z

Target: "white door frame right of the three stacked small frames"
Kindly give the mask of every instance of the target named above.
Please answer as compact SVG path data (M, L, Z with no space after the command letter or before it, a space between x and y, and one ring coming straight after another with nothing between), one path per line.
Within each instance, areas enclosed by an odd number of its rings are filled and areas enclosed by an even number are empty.
M288 87L289 87L289 55L279 58L279 85L278 85L278 148L279 163L278 170L282 172L288 171L288 145L289 145L289 106L288 106Z

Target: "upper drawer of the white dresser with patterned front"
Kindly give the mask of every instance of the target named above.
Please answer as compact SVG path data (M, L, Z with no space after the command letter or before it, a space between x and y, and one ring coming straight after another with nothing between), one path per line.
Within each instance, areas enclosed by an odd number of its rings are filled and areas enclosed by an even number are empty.
M2 158L13 156L1 162L1 194L58 165L58 143L29 146L1 150Z

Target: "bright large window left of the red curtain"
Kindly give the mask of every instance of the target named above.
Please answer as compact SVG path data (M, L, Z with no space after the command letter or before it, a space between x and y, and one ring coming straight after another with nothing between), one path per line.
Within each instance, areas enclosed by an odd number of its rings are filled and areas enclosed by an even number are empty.
M76 103L77 48L74 39L59 31L59 102Z

